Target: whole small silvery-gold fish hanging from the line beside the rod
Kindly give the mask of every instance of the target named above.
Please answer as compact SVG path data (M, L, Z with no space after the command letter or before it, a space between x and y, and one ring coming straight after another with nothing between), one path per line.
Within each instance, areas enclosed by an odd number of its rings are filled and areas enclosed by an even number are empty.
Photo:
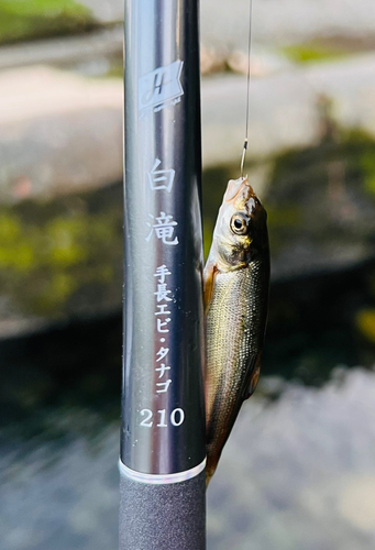
M203 282L208 484L242 402L256 387L267 321L267 215L247 177L228 184Z

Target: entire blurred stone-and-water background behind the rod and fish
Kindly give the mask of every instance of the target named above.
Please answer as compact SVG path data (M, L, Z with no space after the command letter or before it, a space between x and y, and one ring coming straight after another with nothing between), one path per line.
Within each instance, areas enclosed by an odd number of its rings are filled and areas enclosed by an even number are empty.
M201 0L205 250L245 131L249 0ZM118 546L122 0L0 0L0 537ZM375 3L254 0L263 372L209 550L375 543Z

